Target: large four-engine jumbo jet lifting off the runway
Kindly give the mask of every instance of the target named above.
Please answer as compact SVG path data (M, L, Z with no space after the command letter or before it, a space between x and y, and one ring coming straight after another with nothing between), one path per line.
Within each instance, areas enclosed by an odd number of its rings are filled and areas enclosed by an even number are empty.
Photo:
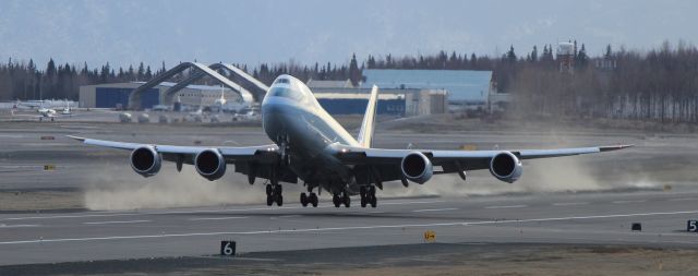
M376 188L385 182L424 183L432 176L489 169L498 180L513 183L524 172L521 160L593 154L631 145L524 151L432 151L373 148L378 88L373 86L358 137L353 137L317 103L305 84L280 75L266 93L261 107L262 127L274 142L249 147L203 147L124 143L71 136L84 144L131 151L136 173L151 177L163 160L193 165L202 177L220 179L228 165L255 179L266 179L267 205L284 203L281 182L302 181L308 193L300 194L303 206L317 206L322 190L333 195L336 207L349 207L350 195L359 194L361 206L375 207ZM317 191L317 194L314 192Z

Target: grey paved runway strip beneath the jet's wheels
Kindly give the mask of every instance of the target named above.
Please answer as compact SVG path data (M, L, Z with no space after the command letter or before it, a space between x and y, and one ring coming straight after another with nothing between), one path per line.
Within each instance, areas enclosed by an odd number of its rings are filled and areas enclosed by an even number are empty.
M290 195L287 195L290 196ZM325 199L326 200L326 199ZM696 190L383 200L377 208L230 205L0 215L0 265L422 243L580 243L697 248ZM354 200L356 202L356 200ZM641 223L642 231L630 231Z

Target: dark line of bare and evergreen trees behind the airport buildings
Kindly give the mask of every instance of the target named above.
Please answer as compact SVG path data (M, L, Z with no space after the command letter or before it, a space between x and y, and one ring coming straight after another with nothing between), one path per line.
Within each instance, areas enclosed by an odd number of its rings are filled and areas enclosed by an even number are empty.
M351 80L362 82L364 69L488 70L500 93L514 98L509 107L515 116L574 116L625 118L671 122L698 122L698 50L679 41L664 43L646 52L606 46L602 55L591 57L586 46L574 41L571 70L561 72L553 45L533 46L517 51L514 46L501 57L478 56L466 51L440 51L425 56L369 56L359 61L352 55L347 63L298 64L262 63L251 70L237 64L263 83L270 84L280 74L301 81ZM140 63L113 68L109 63L89 68L86 63L57 64L52 59L39 69L33 60L9 59L0 64L0 100L69 98L76 99L79 86L99 83L148 81L167 70ZM188 77L184 71L173 81ZM200 83L210 83L206 77Z

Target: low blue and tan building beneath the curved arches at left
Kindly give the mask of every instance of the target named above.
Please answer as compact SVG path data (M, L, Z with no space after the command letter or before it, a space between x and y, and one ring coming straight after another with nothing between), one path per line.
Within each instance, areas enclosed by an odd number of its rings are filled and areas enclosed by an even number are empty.
M80 107L83 108L125 108L129 105L129 95L144 82L109 83L80 86ZM141 96L141 107L153 108L158 105L170 106L166 103L166 92L176 83L163 82L153 88L145 91ZM174 94L174 99L184 106L213 106L220 94L228 103L241 100L240 94L230 88L209 85L186 85Z

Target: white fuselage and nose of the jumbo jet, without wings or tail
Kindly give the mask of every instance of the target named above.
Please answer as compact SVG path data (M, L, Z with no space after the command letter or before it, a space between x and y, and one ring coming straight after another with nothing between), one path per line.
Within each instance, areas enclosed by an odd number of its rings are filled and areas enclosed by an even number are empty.
M351 168L334 157L332 145L359 146L359 142L320 106L305 84L290 75L277 77L261 110L265 133L288 155L289 167L300 179L330 191L351 183Z

